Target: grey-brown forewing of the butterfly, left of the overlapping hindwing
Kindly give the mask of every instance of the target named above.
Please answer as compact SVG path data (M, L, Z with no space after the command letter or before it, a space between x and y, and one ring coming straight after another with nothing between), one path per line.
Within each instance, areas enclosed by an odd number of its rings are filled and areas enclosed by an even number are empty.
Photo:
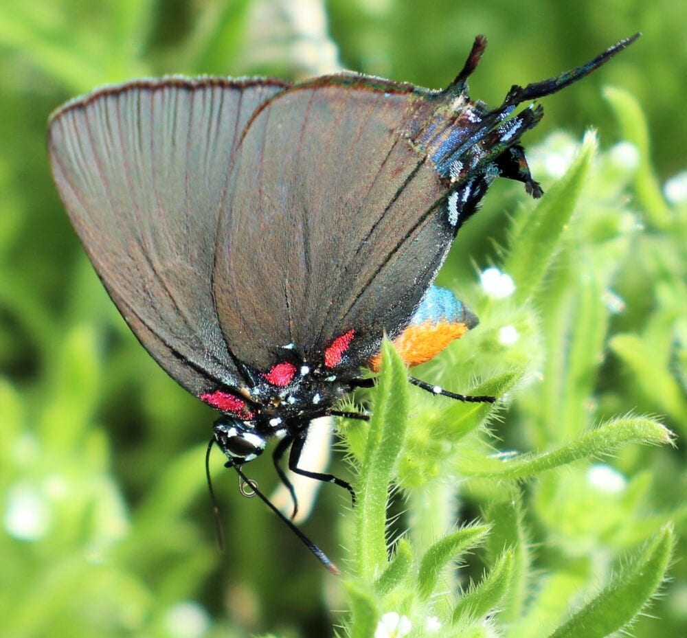
M276 80L164 78L95 91L49 124L54 179L100 279L157 362L198 396L245 385L212 299L240 133Z

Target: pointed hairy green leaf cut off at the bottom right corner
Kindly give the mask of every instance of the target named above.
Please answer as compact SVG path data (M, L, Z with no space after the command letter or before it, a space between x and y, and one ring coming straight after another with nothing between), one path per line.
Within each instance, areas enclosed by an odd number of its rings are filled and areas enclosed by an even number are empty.
M666 525L550 638L604 638L627 626L655 595L668 569L672 547L673 528Z

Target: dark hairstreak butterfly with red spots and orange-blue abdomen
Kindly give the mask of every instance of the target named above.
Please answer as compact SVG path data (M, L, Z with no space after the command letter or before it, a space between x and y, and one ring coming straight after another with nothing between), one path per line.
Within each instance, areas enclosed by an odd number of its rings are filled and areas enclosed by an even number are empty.
M383 335L414 365L475 326L433 280L498 176L542 194L520 138L543 111L516 107L576 82L636 37L512 87L495 109L468 94L483 37L442 91L356 73L297 84L134 80L52 115L52 171L131 330L221 413L211 446L226 465L247 481L243 464L277 437L287 487L289 451L291 470L353 494L346 481L300 468L311 421L346 414L339 399L372 384L361 368L379 366Z

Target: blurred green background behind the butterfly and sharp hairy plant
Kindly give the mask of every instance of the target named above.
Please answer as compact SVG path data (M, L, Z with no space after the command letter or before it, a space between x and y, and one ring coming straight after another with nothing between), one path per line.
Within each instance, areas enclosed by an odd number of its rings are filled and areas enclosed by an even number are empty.
M537 146L561 128L578 139L595 126L607 150L623 137L602 87L622 87L646 114L646 166L663 185L687 169L686 24L687 5L667 0L0 0L0 634L322 637L341 622L332 610L346 608L340 582L221 473L227 552L217 551L203 472L214 413L129 334L82 253L45 153L56 106L101 84L166 73L297 79L348 68L438 88L453 79L476 34L489 47L471 95L497 104L511 84L554 76L641 31L593 76L546 98L546 117L525 143ZM684 206L679 181L674 192ZM622 197L631 201L631 188ZM506 216L523 199L518 185L495 186L458 240L451 280L460 273L474 282L475 264L497 259L493 242L504 241ZM684 277L684 253L665 257L660 275ZM651 289L627 289L627 315L613 321L639 333ZM687 378L684 321L673 316L663 326L675 330L662 354L678 394ZM624 387L614 395L616 413L665 415L622 365L607 372L599 387ZM673 405L684 406L684 394L680 401ZM504 426L510 418L504 413ZM647 516L677 508L687 493L684 418L664 420L682 449L633 453L633 467L654 472ZM263 486L273 484L269 459L251 470ZM346 542L345 506L345 494L325 488L304 526L334 555ZM676 524L684 530L684 510ZM552 569L551 560L541 569ZM684 561L672 575L652 609L660 619L642 619L635 635L686 635Z

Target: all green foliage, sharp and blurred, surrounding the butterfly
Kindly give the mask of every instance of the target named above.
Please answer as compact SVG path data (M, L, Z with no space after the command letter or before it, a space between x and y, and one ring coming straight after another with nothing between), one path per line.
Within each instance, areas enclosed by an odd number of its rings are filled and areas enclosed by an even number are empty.
M2 635L684 636L687 565L670 556L686 554L687 204L679 179L677 196L664 183L686 169L687 9L324 6L3 3ZM297 78L339 60L438 87L477 33L490 45L471 93L493 104L637 30L631 49L544 101L526 139L541 201L497 183L440 273L481 323L414 374L499 402L409 387L385 345L379 384L357 396L372 421L339 424L352 468L333 471L353 473L357 508L325 486L306 525L343 577L240 497L213 457L220 554L203 472L214 415L150 360L82 254L49 177L49 112L136 76ZM579 144L592 123L600 135ZM491 284L475 264L497 267ZM264 460L251 476L269 488Z

